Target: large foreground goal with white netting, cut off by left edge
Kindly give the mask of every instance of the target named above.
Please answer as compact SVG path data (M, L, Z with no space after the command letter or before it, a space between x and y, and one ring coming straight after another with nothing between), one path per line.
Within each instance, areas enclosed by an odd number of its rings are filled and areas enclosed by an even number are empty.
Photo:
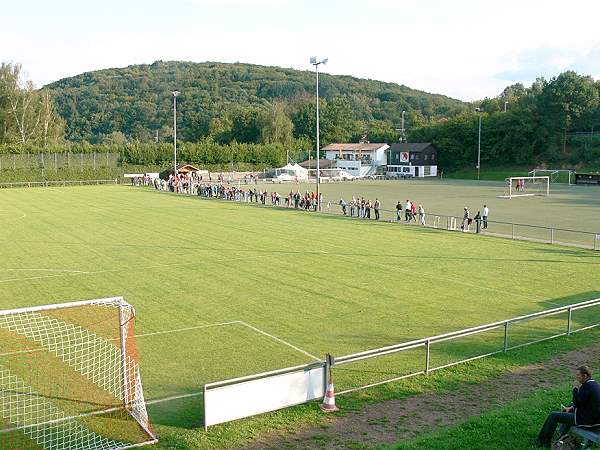
M0 449L156 442L121 297L0 311Z

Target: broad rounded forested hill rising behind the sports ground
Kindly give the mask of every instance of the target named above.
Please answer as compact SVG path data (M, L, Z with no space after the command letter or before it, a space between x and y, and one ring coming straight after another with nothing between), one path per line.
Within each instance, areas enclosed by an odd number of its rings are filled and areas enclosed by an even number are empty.
M46 86L66 122L66 137L92 143L171 136L179 90L182 140L217 142L312 138L315 74L250 64L162 62L87 72ZM396 140L401 112L413 126L466 105L393 83L320 74L324 143ZM408 124L407 124L408 125Z

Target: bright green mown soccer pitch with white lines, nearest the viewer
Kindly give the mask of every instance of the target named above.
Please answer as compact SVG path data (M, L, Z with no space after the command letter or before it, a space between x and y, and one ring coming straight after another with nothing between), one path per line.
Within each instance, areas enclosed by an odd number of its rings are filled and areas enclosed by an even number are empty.
M5 190L0 223L0 308L135 306L159 437L210 381L600 297L589 250L144 188Z

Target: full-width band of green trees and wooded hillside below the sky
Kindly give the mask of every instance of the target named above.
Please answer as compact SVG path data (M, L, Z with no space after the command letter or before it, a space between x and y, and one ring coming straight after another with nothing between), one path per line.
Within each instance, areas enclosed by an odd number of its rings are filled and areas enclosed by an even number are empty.
M84 73L40 90L23 79L19 65L1 64L0 152L118 152L123 164L168 164L174 88L181 92L181 161L266 167L314 149L314 73L156 62ZM470 105L327 74L320 92L323 146L365 137L395 142L406 110L409 140L433 142L444 168L474 164L480 117L484 164L600 166L600 82L575 72L530 87L515 84Z

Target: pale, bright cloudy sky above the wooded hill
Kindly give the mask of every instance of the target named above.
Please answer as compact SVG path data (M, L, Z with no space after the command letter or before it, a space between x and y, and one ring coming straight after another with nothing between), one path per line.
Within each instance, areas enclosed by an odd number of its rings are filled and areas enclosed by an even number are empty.
M4 3L4 2L3 2ZM600 79L599 0L29 0L0 6L0 61L36 86L163 61L244 62L465 101L565 70Z

